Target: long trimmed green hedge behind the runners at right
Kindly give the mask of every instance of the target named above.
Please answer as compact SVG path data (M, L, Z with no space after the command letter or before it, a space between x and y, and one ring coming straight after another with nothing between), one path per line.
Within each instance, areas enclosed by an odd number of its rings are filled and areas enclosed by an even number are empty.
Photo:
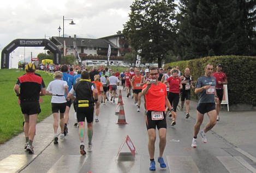
M204 76L204 67L208 63L212 64L215 70L217 64L223 65L222 71L228 77L229 104L244 103L256 106L256 57L235 55L205 57L176 61L165 64L164 67L176 67L178 65L182 73L188 67L193 81L195 81L200 76Z

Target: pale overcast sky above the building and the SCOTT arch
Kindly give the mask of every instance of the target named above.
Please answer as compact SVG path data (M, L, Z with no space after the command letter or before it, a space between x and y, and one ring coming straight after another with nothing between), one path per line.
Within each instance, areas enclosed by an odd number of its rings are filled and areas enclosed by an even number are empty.
M64 21L64 35L80 38L100 38L114 35L123 29L128 20L133 0L8 0L0 5L0 51L14 39L43 39L58 36L57 28L63 28L63 16L73 19ZM62 35L61 31L61 35ZM26 61L44 52L44 47L25 48ZM24 48L12 53L13 65L23 59Z

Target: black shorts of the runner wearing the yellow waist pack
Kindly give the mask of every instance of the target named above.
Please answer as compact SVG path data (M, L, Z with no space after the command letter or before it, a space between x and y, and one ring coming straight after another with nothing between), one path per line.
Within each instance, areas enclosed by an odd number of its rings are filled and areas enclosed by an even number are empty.
M78 122L85 122L85 118L87 123L93 122L93 111L94 107L78 108L76 110L76 118L78 119Z

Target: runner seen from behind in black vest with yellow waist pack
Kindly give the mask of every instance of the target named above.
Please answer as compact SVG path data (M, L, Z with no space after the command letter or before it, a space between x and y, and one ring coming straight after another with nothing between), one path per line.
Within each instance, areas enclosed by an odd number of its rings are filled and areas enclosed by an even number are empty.
M68 98L75 100L77 105L76 116L79 123L79 139L80 139L80 153L86 155L85 144L84 144L84 129L85 129L85 118L87 121L87 135L88 135L88 146L87 150L92 150L92 135L93 135L93 112L94 102L98 101L98 90L96 85L89 80L90 75L87 71L83 71L81 74L81 80L79 83L74 84L72 90L68 93ZM93 98L94 93L94 98ZM74 96L76 95L76 97Z

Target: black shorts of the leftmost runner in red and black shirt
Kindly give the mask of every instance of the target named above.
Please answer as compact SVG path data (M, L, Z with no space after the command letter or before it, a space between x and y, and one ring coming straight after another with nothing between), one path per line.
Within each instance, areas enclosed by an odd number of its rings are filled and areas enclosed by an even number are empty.
M33 115L41 112L39 101L21 101L22 114Z

